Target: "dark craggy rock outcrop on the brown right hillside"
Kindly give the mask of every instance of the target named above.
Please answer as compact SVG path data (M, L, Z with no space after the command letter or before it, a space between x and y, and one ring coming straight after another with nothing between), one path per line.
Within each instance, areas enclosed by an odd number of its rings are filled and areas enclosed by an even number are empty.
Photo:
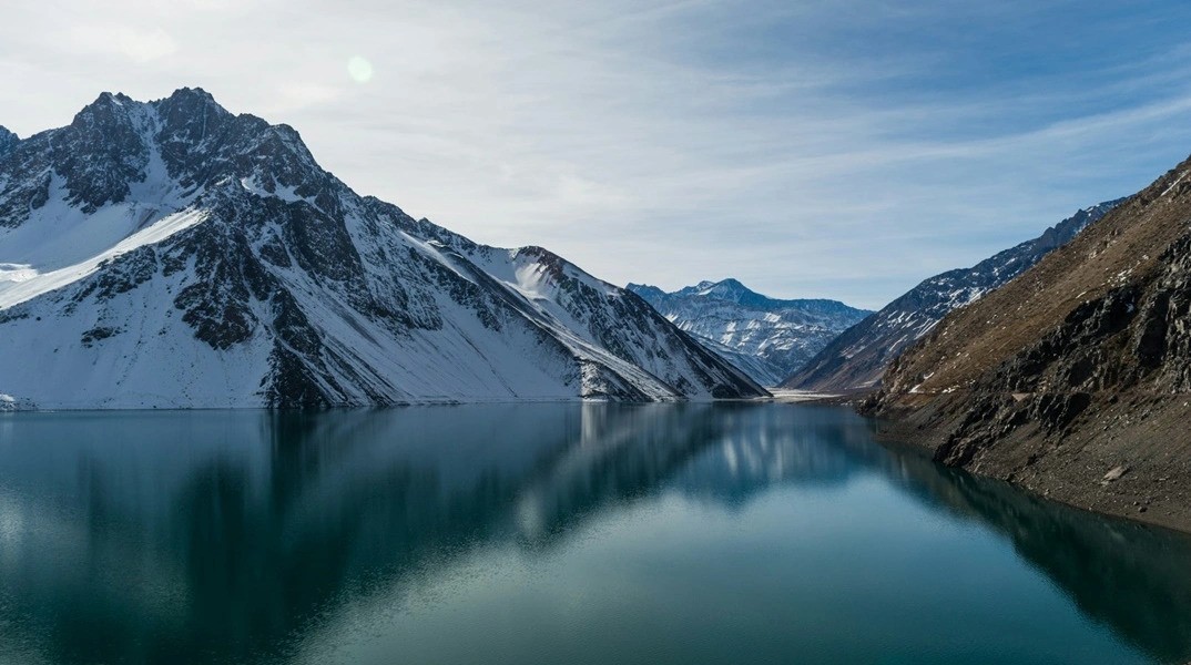
M1059 441L1093 395L1191 393L1191 234L1160 261L1167 268L1152 283L1127 284L1080 303L1041 340L978 381L966 415L936 459L966 465L1027 425L1031 435Z

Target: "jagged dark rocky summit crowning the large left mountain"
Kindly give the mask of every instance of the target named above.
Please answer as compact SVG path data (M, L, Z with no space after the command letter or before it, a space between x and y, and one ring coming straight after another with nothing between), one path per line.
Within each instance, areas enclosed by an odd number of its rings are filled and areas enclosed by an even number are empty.
M69 126L21 142L11 159L20 193L0 199L0 226L18 226L61 182L69 202L92 214L132 202L181 209L202 193L239 183L257 193L333 206L342 186L287 125L233 115L201 88L139 102L102 93ZM21 201L33 201L33 206ZM7 205L6 205L7 203Z

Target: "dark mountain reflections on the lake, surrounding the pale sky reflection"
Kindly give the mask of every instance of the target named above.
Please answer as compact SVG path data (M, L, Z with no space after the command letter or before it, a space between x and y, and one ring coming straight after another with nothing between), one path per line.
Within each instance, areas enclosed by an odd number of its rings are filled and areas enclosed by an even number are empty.
M1191 657L1181 535L881 447L868 421L838 408L573 403L2 415L0 660L308 659L310 635L376 604L400 614L424 602L413 589L485 552L562 556L598 538L591 525L666 497L735 514L779 490L871 478L933 519L1011 545L1109 642L1148 661ZM526 660L557 660L550 644ZM774 648L743 655L784 653Z

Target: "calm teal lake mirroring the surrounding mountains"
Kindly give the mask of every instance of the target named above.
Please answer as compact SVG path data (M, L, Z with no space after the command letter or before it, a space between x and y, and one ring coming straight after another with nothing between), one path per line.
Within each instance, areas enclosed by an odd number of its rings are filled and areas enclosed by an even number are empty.
M846 408L0 415L0 663L1191 658L1191 540Z

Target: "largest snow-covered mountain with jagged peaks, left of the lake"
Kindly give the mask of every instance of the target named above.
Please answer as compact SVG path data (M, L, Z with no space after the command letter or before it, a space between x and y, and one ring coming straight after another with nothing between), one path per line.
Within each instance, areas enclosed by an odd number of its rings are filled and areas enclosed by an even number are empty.
M636 295L360 196L201 89L5 145L10 407L765 394Z

